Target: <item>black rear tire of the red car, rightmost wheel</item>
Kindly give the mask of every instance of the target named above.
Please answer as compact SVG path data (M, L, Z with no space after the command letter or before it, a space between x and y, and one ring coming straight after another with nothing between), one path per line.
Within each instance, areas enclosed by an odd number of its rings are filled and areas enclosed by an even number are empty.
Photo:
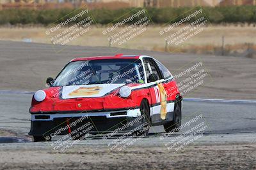
M179 132L179 127L181 125L182 111L181 111L181 101L176 101L173 111L173 120L164 124L164 130L166 132Z

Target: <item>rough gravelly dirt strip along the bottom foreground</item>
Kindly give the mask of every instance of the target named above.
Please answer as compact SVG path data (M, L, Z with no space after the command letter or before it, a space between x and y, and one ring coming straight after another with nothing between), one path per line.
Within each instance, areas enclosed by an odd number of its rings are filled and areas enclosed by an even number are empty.
M196 154L195 154L196 153ZM76 146L65 153L34 146L6 148L0 169L255 169L256 144L188 146L180 152L163 147L127 148Z

